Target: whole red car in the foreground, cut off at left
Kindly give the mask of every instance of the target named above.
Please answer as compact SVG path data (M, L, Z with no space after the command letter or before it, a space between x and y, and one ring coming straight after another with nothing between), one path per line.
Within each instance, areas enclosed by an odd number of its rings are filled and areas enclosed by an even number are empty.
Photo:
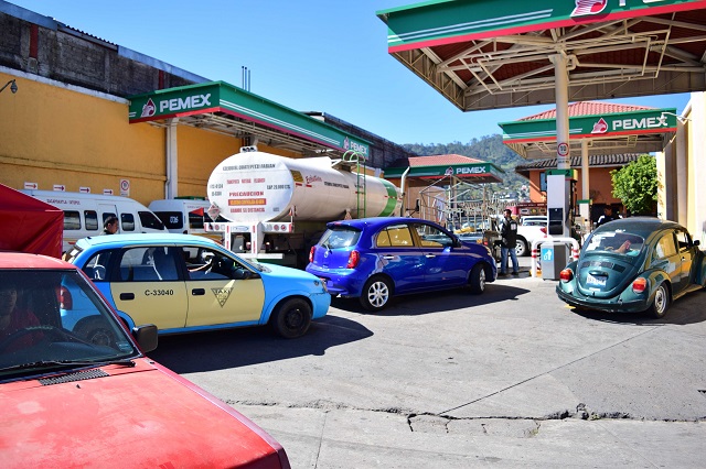
M78 296L104 336L72 318ZM129 334L74 265L0 252L0 466L289 468L261 428L147 358L154 347L157 328Z

